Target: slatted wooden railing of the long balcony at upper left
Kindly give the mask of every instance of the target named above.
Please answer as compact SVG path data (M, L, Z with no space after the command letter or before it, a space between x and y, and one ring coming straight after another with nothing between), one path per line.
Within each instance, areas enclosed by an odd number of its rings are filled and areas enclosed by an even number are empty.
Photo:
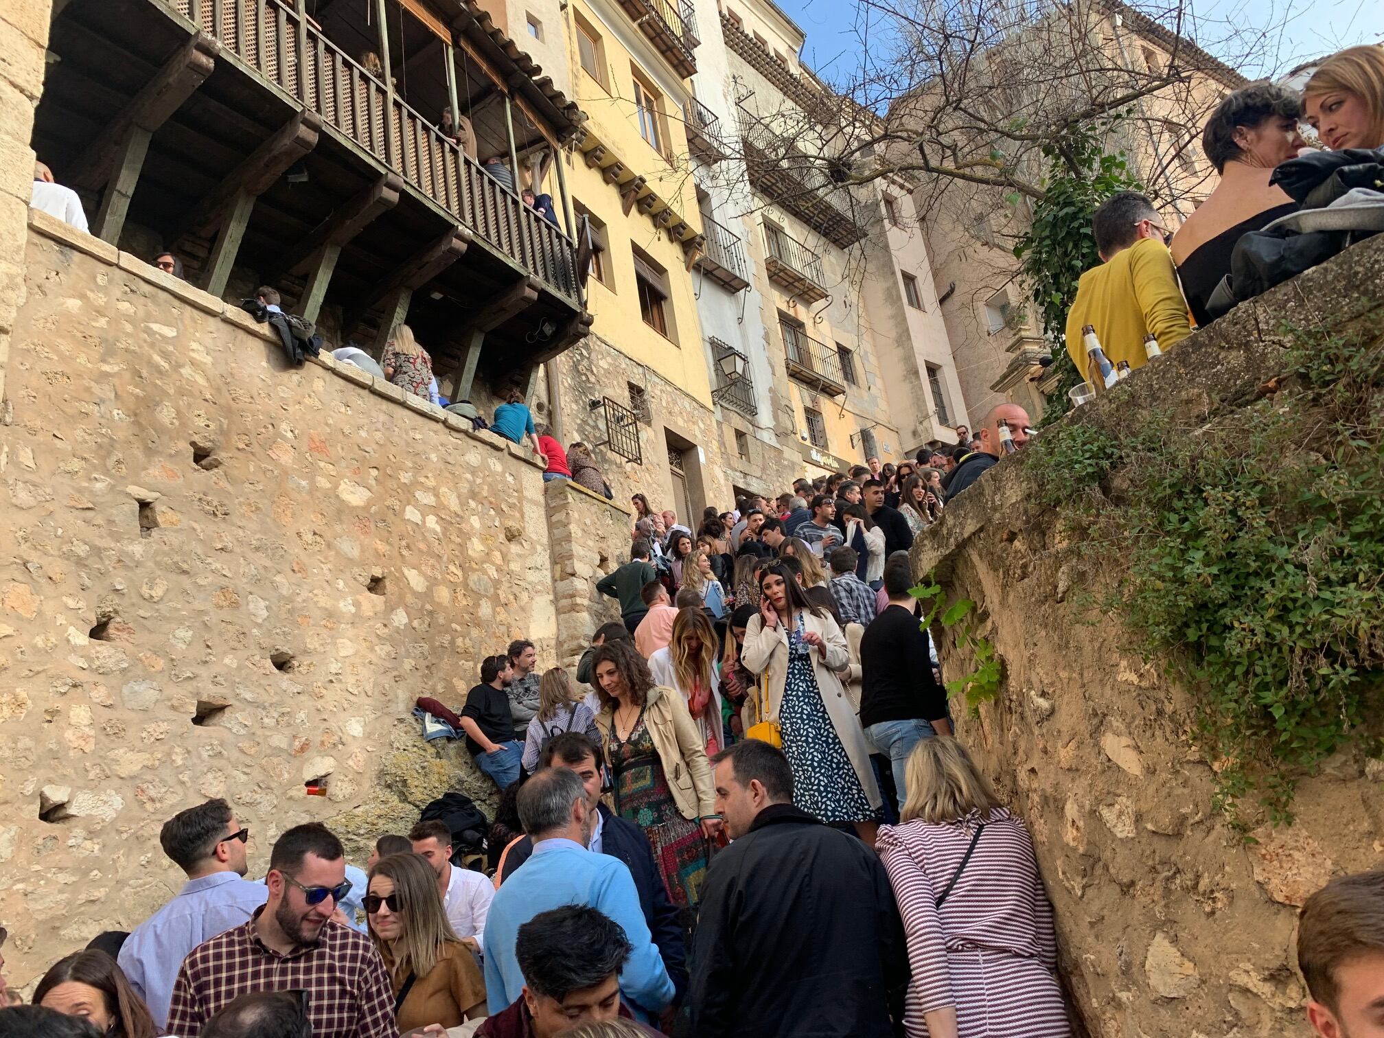
M280 0L159 0L577 303L577 246Z

